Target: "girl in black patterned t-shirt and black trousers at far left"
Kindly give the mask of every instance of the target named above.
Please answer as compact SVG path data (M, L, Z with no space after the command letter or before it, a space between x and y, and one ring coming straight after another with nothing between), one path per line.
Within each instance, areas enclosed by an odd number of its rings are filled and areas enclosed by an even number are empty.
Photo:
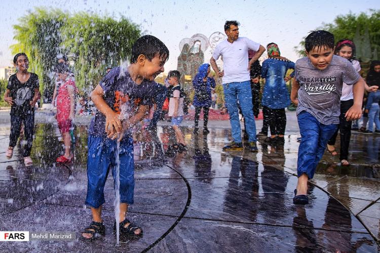
M23 123L26 138L23 157L25 166L30 166L33 164L30 152L34 131L34 105L40 99L40 83L36 74L28 72L29 59L25 53L15 55L13 63L17 73L9 77L4 95L4 100L11 105L11 134L6 157L12 158Z

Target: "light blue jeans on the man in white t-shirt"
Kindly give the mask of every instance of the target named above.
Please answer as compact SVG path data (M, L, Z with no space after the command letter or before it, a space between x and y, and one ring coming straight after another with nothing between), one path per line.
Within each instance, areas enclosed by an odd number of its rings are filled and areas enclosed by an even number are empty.
M239 101L239 105L244 116L245 124L247 126L246 132L248 134L248 141L255 142L256 124L252 110L253 105L250 81L224 83L223 90L225 104L230 114L232 138L237 143L242 142L238 109Z

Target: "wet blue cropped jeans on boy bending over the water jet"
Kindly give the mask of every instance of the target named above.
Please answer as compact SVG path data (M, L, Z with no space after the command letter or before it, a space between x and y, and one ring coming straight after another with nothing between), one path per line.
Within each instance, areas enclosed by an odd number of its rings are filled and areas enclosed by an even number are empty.
M115 151L116 140L106 137L89 135L87 157L87 197L86 204L91 207L99 207L104 200L104 185L111 169L116 186L117 161ZM125 137L120 142L120 202L133 204L133 191L135 187L133 140Z

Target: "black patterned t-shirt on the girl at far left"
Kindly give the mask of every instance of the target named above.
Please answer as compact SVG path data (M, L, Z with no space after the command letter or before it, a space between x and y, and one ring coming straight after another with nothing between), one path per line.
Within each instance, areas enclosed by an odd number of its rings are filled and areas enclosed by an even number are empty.
M9 77L7 89L9 96L13 99L11 115L26 115L34 113L34 105L30 106L30 101L34 97L34 89L40 89L39 77L30 73L29 79L22 83L16 74Z

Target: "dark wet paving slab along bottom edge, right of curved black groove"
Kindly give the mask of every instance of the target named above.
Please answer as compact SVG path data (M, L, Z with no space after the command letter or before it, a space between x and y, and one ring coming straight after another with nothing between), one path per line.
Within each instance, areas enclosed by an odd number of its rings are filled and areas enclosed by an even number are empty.
M299 220L304 220L300 222ZM368 234L183 219L153 252L376 252ZM228 236L226 236L228 235ZM239 248L237 250L237 248Z

